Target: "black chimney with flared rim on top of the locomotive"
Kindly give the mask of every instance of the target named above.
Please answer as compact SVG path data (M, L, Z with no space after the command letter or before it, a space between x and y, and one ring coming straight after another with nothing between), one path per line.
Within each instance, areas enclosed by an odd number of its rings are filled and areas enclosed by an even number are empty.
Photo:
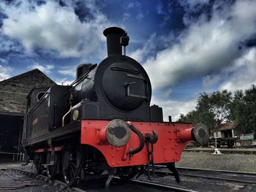
M105 37L107 37L108 57L111 55L122 55L122 45L127 46L129 37L122 28L110 27L103 31ZM128 42L124 44L122 39L128 38ZM127 39L125 39L127 40Z

